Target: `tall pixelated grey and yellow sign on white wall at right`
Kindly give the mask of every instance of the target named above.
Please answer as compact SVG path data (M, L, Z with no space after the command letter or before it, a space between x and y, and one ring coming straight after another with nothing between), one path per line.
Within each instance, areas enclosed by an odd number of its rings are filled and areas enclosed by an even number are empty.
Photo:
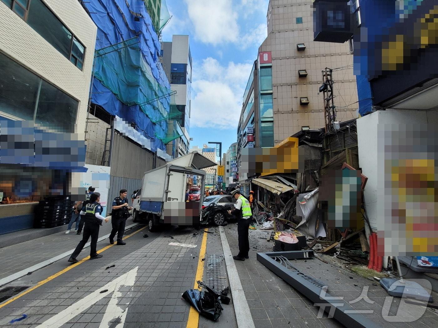
M378 128L378 252L388 256L438 254L438 139L434 124Z

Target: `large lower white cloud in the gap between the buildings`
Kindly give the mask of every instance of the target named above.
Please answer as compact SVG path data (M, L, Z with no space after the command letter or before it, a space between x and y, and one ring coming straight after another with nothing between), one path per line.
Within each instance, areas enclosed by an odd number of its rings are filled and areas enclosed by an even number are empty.
M208 57L195 65L190 125L236 129L252 64L230 62L222 66Z

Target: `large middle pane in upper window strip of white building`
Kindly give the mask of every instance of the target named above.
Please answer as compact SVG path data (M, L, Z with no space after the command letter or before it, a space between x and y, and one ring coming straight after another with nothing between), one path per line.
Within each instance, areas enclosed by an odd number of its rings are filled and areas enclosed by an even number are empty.
M31 1L27 22L55 49L70 59L73 35L41 0Z

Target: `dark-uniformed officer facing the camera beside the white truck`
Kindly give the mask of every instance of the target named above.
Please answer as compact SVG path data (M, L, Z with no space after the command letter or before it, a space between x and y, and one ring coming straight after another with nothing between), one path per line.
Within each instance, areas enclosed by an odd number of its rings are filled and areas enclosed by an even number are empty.
M120 190L120 196L113 200L113 210L111 212L111 223L113 224L113 230L109 235L109 243L114 244L114 237L117 234L117 245L126 245L122 240L125 232L126 220L131 216L129 210L132 207L128 206L128 199L126 198L127 190Z

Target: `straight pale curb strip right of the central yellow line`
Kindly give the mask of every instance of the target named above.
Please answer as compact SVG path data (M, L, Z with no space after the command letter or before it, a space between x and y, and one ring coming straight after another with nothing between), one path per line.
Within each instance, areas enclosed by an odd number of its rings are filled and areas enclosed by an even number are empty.
M248 301L245 297L242 284L240 283L239 273L234 264L233 255L231 254L230 245L226 240L223 227L219 227L220 239L222 242L223 255L225 258L226 271L230 281L230 290L233 297L234 312L236 314L238 328L255 328L252 320L251 311L249 310Z

